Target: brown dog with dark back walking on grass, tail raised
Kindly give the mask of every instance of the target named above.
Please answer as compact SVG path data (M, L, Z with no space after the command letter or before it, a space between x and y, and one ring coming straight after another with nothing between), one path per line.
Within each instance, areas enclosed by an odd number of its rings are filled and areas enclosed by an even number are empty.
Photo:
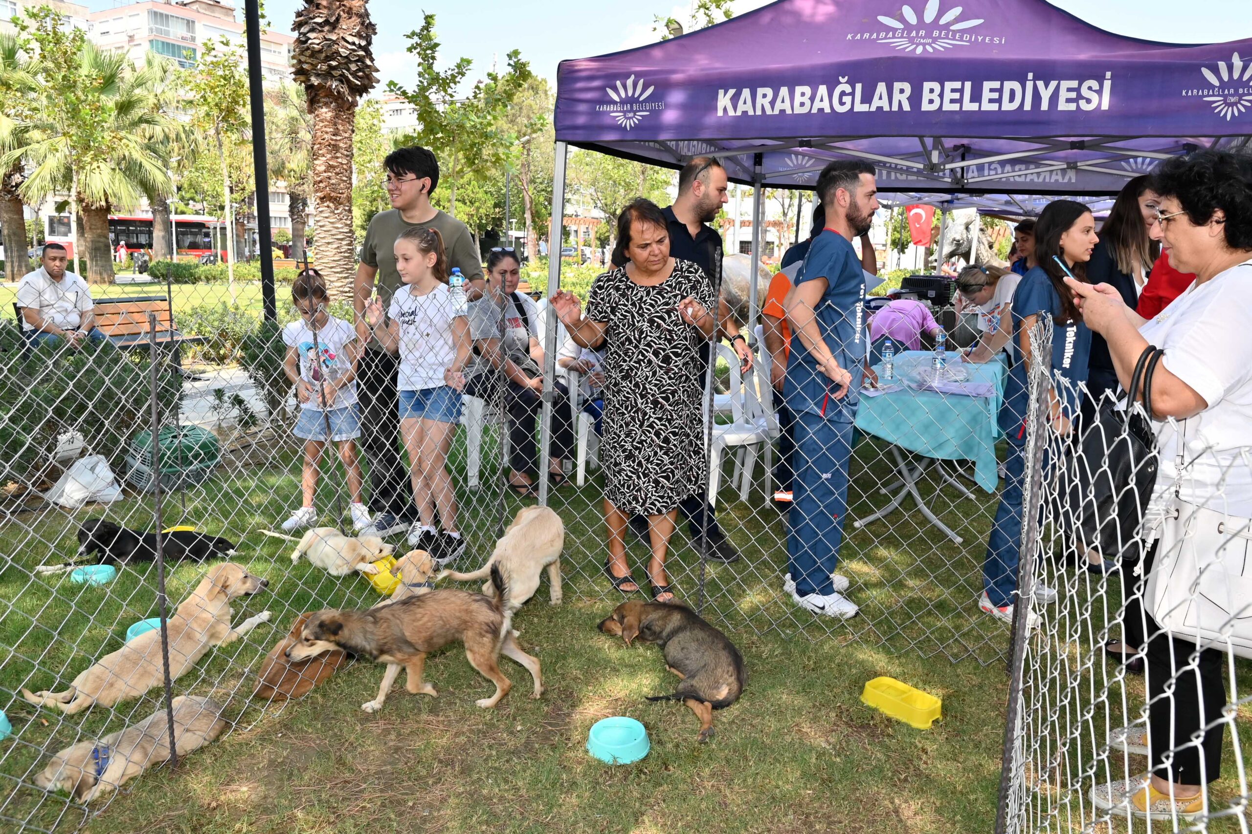
M500 671L501 654L526 666L535 679L531 698L538 698L543 694L540 661L517 645L511 628L512 613L502 601L508 599L508 586L497 565L492 565L491 578L495 598L444 589L364 611L318 611L304 624L299 640L287 650L287 658L307 660L323 651L343 649L386 663L378 696L361 706L367 713L377 713L401 669L407 671L404 689L433 698L434 686L422 681L426 655L459 640L470 665L496 684L491 698L475 701L478 706L495 706L512 689L513 684Z

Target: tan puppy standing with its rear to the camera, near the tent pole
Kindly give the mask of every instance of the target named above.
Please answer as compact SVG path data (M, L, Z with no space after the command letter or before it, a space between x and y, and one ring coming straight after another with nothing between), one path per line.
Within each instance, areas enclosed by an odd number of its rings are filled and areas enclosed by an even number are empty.
M482 593L491 596L495 589L491 584L491 566L500 565L508 585L508 606L520 609L540 588L540 575L548 570L551 585L551 604L560 605L561 594L561 550L565 548L565 524L561 516L547 506L526 506L505 530L496 543L496 550L478 570L462 574L444 570L436 579L456 579L457 581L477 581L486 579Z

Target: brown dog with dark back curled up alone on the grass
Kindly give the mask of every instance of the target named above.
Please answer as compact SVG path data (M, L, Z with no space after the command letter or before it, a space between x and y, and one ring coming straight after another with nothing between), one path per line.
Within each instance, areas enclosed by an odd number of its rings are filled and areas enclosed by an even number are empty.
M726 635L681 603L622 603L600 623L605 634L630 645L640 639L655 643L665 654L665 668L681 681L672 695L649 700L681 700L700 719L700 740L712 738L712 710L739 699L747 684L744 658Z

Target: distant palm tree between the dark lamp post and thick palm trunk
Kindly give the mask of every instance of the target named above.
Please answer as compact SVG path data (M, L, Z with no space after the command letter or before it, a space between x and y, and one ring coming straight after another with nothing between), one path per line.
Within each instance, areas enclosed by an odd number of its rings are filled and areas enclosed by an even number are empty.
M283 84L269 96L265 114L269 170L287 183L287 211L292 218L292 258L304 258L309 195L313 193L313 118L304 89Z

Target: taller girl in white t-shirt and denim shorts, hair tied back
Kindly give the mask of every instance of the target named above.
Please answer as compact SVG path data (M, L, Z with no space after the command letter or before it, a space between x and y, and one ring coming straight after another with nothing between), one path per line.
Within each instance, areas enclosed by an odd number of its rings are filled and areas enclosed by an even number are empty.
M448 261L436 229L404 230L394 251L404 285L396 290L386 316L382 301L371 299L358 333L368 339L368 325L387 351L399 354L399 428L418 510L408 543L443 565L464 553L447 458L461 421L470 325L457 315L448 291ZM436 531L436 511L442 533Z

